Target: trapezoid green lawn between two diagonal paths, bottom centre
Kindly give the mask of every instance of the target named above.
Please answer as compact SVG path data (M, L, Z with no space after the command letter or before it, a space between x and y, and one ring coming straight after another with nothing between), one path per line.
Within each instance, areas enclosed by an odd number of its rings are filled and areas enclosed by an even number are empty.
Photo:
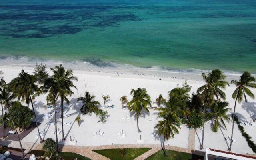
M121 149L108 149L108 150L93 150L111 160L133 160L141 154L147 152L151 148L126 148L124 156L121 156Z

